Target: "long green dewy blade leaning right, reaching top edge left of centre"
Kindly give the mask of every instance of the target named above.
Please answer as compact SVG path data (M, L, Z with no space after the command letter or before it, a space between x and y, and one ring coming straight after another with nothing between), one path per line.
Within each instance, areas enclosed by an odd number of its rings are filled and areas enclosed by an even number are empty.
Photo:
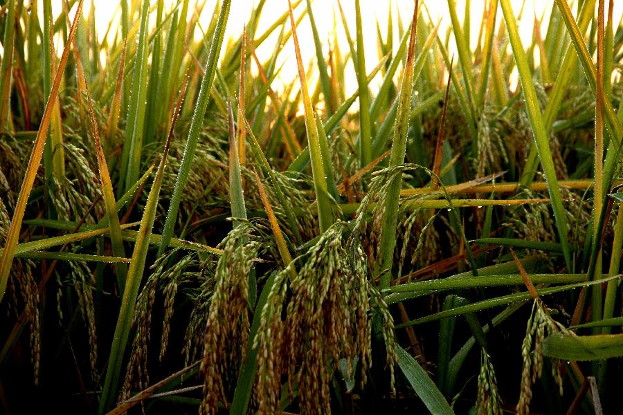
M201 127L204 123L204 116L206 115L206 109L208 108L208 98L210 96L210 90L212 89L212 83L216 73L217 59L223 43L225 26L227 24L230 7L231 0L224 0L219 12L214 37L210 43L210 52L208 54L208 62L206 63L206 74L201 80L199 96L197 97L197 103L195 104L195 111L192 114L190 131L188 131L188 140L186 141L186 147L184 148L179 172L175 180L175 187L173 189L167 219L165 220L164 230L162 232L162 242L161 246L158 248L159 257L163 254L165 248L169 245L169 241L173 237L173 228L177 221L177 212L181 202L181 195L184 187L186 186L188 175L190 174L190 166L192 165L192 159L195 157L195 149L197 149L199 133L201 132Z

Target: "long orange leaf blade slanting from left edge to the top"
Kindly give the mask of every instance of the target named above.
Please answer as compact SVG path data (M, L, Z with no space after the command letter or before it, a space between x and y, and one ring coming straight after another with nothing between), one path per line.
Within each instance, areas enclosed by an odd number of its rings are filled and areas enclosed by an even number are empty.
M30 191L33 190L33 183L35 183L37 169L39 168L39 163L41 162L41 158L43 156L44 145L46 142L48 128L50 127L52 111L54 108L60 82L62 80L62 76L65 70L65 66L67 64L67 59L69 57L69 50L71 49L71 44L73 43L73 38L75 37L75 32L78 28L78 21L80 20L80 16L82 13L83 1L84 0L80 0L80 2L78 3L78 8L76 10L75 17L73 18L73 23L71 24L71 30L69 31L67 43L63 50L63 55L60 59L59 66L56 71L56 76L52 84L52 89L48 97L48 101L46 102L46 107L42 116L42 122L39 126L39 131L37 131L37 137L35 138L35 143L33 145L33 153L30 155L30 159L28 160L28 166L26 167L24 182L19 189L19 196L17 198L17 204L15 205L15 213L13 214L8 237L6 239L6 245L2 252L2 257L0 258L0 302L2 301L2 297L4 296L4 293L6 291L9 270L11 268L13 257L15 255L15 246L17 246L17 240L19 239L21 221L24 219L24 212L26 211L28 196L30 195Z

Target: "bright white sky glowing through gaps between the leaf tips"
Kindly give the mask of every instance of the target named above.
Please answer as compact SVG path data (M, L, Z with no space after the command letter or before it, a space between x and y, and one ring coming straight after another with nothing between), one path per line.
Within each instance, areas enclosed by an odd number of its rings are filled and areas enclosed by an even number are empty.
M165 0L165 3L174 3L177 0ZM195 0L191 0L191 3ZM511 0L513 6L518 13L518 10L521 8L521 4L523 0ZM459 18L462 20L464 15L465 1L464 0L455 0L457 4L457 12ZM530 44L530 39L532 37L532 25L534 22L534 16L538 16L539 18L543 14L543 10L552 6L554 0L525 0L525 10L523 12L523 19L520 21L520 32L523 39L524 44ZM54 6L60 9L60 1L53 1ZM111 0L87 0L85 1L85 10L87 13L89 8L91 7L91 3L95 4L96 7L96 19L97 19L97 30L98 35L102 36L105 33L105 30L111 21L114 19L118 21L120 16L120 10L118 6L118 2ZM152 0L152 5L155 5L156 1ZM214 10L216 0L206 0L206 6L204 8L204 13L201 16L201 24L205 28L208 26L208 21L210 21L211 13ZM251 13L251 8L254 3L257 3L257 0L233 0L231 6L231 12L228 19L227 30L226 30L226 39L229 37L237 37L242 32L243 25L249 21L249 16ZM341 0L342 6L344 8L345 15L347 17L348 25L352 35L354 36L354 28L355 28L355 14L354 14L354 0ZM392 3L392 15L393 21L395 25L395 33L397 33L397 19L403 19L405 26L406 22L413 15L413 1L408 0L361 0L361 12L362 12L362 21L364 28L364 43L365 43L365 63L366 68L370 71L379 61L379 57L377 55L377 29L376 29L376 20L380 22L381 31L383 36L386 35L387 21L388 21L388 3ZM471 1L471 39L472 39L472 47L476 42L476 37L478 37L478 29L479 22L482 19L482 8L484 0L473 0ZM573 1L575 3L575 1ZM617 17L623 15L623 1L615 0L615 9L613 15L615 16L615 20ZM608 1L606 1L606 5ZM431 16L436 21L436 19L442 19L442 28L441 33L445 32L445 28L450 24L450 17L448 14L448 3L444 0L424 0L424 5L431 11ZM295 10L295 15L299 15L298 10L303 10L305 7L305 0L303 3ZM314 11L314 17L316 18L316 26L318 27L318 33L320 34L320 39L325 42L325 40L329 37L329 35L333 31L334 26L334 15L337 19L337 27L338 27L338 42L340 42L340 47L343 52L345 52L347 48L344 31L341 26L341 19L339 17L339 12L337 9L337 1L336 0L313 0L312 1L312 10ZM574 9L575 10L575 9ZM260 23L258 27L258 33L264 33L264 30L271 26L272 22L280 17L284 12L287 11L287 0L267 0L262 10L262 16L260 18ZM55 10L55 13L60 12L60 10ZM501 19L502 12L498 9L498 21ZM543 35L545 35L546 24L543 25ZM201 33L197 33L196 36L201 36ZM277 33L265 42L264 47L258 48L258 56L260 60L267 59L273 50L273 46L276 42ZM303 55L303 62L307 64L311 59L315 59L315 49L314 43L311 37L311 28L309 26L309 19L305 18L298 27L298 37L301 42L301 53ZM453 38L451 38L453 42ZM394 41L394 46L397 47L397 39ZM451 45L451 48L453 45ZM328 54L327 54L328 55ZM285 44L284 50L282 51L282 60L278 62L278 64L284 63L284 67L281 72L281 81L285 83L291 82L291 80L296 77L296 61L294 59L294 46L291 42ZM251 66L253 68L253 65ZM355 77L350 77L347 79L347 93L352 93L356 90L356 79Z

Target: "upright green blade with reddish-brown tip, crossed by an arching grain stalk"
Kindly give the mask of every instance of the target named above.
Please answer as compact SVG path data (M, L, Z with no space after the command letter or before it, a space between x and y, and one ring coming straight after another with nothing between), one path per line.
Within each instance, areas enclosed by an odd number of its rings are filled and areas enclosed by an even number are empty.
M392 153L389 163L390 167L403 164L406 152L406 138L409 127L411 95L413 94L413 66L415 64L415 34L417 30L418 6L419 1L416 0L409 36L407 59L400 87L398 116L394 126ZM394 257L394 248L396 245L396 223L398 221L398 202L401 187L402 178L395 178L389 186L386 200L384 202L385 212L382 219L380 241L381 260L376 262L376 267L374 269L374 275L381 276L381 288L387 288L390 283L391 266Z

